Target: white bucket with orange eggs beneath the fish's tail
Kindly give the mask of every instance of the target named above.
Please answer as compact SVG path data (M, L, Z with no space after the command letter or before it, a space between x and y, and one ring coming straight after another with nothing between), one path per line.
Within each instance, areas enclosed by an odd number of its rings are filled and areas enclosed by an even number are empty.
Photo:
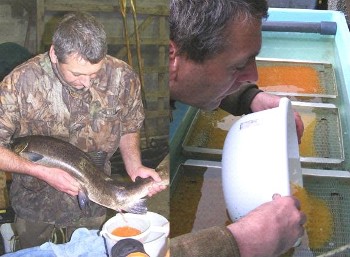
M131 213L124 213L123 215L127 221L127 225L130 227L139 229L145 224L149 224L146 230L141 230L142 233L140 235L128 238L137 239L142 242L146 253L150 257L164 257L166 255L170 226L169 221L165 217L154 212L147 212L147 214L144 215ZM143 225L140 225L141 223L143 223ZM124 226L124 224L125 221L121 217L121 214L117 214L106 221L102 227L101 235L105 239L107 253L109 256L111 256L111 249L116 242L124 238L112 235L112 231L116 227ZM135 226L133 224L135 224Z

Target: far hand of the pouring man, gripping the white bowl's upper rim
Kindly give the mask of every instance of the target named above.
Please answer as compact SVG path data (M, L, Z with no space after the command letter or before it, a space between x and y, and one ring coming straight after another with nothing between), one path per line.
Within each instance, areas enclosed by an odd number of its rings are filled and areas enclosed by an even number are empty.
M271 108L275 108L279 106L281 97L277 95L268 94L265 92L261 92L257 94L253 101L250 104L250 109L252 112L263 111ZM298 112L294 111L294 119L295 125L298 135L298 142L301 143L301 137L304 133L304 123L301 120L301 117Z

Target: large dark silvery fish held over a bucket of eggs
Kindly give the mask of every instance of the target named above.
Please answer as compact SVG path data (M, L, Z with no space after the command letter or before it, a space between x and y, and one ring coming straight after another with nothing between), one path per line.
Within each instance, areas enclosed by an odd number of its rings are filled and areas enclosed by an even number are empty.
M68 172L80 183L79 204L85 205L87 198L97 204L116 211L131 213L147 212L145 196L152 186L152 178L122 183L105 175L97 168L90 156L76 146L49 136L26 136L14 139L12 150L18 155L48 167ZM168 156L158 165L157 171L163 185L169 184Z

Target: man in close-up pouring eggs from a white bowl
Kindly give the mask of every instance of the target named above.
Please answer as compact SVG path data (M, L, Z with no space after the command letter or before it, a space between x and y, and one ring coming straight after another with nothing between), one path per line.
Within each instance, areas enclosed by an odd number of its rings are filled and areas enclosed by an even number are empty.
M280 97L254 84L267 10L263 0L171 0L171 99L234 115L277 107ZM303 123L295 119L300 140ZM306 217L294 197L271 200L227 227L173 238L171 256L279 256L303 235Z

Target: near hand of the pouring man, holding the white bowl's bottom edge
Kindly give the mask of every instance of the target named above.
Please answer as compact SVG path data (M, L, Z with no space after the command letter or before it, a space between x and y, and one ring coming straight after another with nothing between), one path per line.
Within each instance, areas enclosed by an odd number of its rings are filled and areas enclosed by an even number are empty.
M235 237L241 256L280 256L304 234L306 216L294 197L274 195L227 228Z

